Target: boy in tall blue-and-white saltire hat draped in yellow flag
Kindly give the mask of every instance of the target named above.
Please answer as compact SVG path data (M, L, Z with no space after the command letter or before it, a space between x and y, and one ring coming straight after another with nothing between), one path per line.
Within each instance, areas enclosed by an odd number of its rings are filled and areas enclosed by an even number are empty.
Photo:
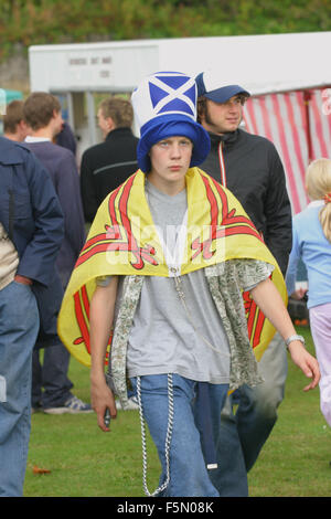
M140 170L100 205L58 321L70 342L73 296L83 284L90 294L90 384L98 425L109 431L105 414L116 417L115 394L125 409L128 377L139 402L148 496L220 496L213 472L222 464L223 403L229 389L261 380L241 288L250 290L288 338L295 362L312 378L308 388L319 380L318 363L296 336L269 279L275 260L232 193L195 167L209 152L195 100L195 82L182 73L151 75L134 92ZM99 233L105 224L107 235ZM247 251L245 243L252 245ZM210 396L203 415L195 409L197 383ZM145 421L162 467L154 490L147 486Z

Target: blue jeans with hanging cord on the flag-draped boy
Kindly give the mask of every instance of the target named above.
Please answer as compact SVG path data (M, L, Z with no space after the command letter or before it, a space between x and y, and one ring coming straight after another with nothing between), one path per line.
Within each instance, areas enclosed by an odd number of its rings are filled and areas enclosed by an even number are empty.
M170 483L163 497L218 497L218 491L211 483L210 472L201 445L201 435L194 416L196 382L173 374L174 416L170 446ZM137 390L137 379L131 379ZM217 424L228 386L209 384L214 395L213 416L214 437L217 437ZM143 416L151 437L157 446L162 466L159 484L166 480L164 442L168 428L168 377L167 374L141 377L141 402ZM154 490L150 489L150 490Z

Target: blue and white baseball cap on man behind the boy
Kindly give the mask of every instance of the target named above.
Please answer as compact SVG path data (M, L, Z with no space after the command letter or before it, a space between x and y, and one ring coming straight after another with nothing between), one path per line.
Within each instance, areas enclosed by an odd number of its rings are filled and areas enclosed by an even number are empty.
M201 72L195 77L197 86L197 97L207 97L207 99L214 100L215 103L226 103L231 97L244 94L249 97L249 92L245 91L239 85L222 85L220 83L220 76L211 72Z

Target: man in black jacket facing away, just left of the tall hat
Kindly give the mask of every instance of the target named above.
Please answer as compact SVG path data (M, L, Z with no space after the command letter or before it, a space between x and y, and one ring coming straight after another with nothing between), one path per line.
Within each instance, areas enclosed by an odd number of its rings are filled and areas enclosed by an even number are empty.
M134 110L129 100L109 97L98 108L98 124L104 142L84 151L81 188L85 220L92 222L110 191L138 169L137 144L131 126Z

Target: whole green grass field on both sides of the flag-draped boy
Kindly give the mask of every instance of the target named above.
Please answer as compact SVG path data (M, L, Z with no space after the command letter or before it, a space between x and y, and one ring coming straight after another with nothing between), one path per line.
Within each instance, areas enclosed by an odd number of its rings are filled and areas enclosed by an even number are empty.
M312 350L308 328L298 328ZM89 401L89 373L74 359L75 394ZM278 422L249 473L252 497L329 497L331 430L319 409L319 390L303 393L306 379L289 362ZM41 474L42 470L49 470ZM158 486L159 460L148 438L148 487ZM110 433L95 414L32 415L25 497L141 497L142 458L137 411L119 411Z

